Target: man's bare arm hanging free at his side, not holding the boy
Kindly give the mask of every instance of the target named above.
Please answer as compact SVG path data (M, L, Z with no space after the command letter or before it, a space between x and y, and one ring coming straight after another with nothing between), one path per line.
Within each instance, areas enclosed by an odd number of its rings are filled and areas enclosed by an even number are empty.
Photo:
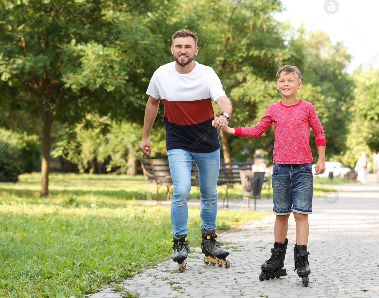
M156 99L152 96L149 97L146 104L145 118L143 122L143 132L141 146L139 146L142 152L148 156L151 154L150 148L150 131L153 127L155 117L157 117L160 99ZM147 148L147 149L146 149Z

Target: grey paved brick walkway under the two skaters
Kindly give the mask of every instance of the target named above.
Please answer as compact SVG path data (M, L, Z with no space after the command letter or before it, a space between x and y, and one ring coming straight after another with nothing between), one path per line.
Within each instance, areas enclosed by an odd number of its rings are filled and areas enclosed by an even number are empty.
M379 297L379 185L334 186L338 191L313 199L310 222L309 287L293 271L295 222L290 216L287 276L259 281L260 265L270 256L274 216L222 235L230 255L229 269L204 265L200 248L192 249L184 273L168 260L124 281L140 297ZM272 210L272 199L257 202ZM91 298L117 298L110 288Z

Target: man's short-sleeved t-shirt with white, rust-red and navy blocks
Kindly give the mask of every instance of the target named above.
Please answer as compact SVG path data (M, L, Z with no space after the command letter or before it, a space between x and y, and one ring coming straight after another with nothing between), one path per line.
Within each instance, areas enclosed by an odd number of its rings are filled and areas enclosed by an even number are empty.
M159 67L146 94L163 102L167 150L208 153L220 147L212 100L226 94L215 71L194 62L188 74L179 74L175 61Z

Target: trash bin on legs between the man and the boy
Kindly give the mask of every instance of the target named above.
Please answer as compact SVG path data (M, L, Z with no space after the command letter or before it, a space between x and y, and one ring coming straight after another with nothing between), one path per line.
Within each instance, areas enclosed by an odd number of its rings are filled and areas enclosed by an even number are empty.
M240 171L241 184L247 198L247 209L250 209L250 199L254 200L254 210L257 209L257 199L260 199L265 172Z

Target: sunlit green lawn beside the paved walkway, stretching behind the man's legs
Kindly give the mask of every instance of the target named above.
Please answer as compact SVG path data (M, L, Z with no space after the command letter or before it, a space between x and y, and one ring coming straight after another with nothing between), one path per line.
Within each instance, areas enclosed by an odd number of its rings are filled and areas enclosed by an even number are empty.
M51 174L45 201L38 173L0 184L1 297L85 297L171 256L170 206L133 199L143 177L68 175ZM226 230L266 215L220 210L217 221ZM191 247L199 223L199 209L189 208Z

